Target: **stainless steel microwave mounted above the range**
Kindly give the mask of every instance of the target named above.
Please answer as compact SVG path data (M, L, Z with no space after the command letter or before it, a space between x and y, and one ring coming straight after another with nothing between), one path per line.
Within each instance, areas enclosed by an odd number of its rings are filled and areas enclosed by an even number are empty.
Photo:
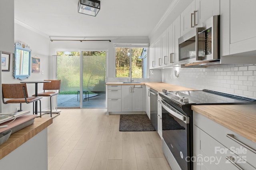
M220 63L220 16L212 16L178 39L180 65Z

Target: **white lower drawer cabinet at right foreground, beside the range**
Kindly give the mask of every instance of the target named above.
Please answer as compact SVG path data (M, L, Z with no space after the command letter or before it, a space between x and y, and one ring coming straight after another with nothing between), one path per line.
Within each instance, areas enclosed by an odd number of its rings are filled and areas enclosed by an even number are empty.
M256 143L199 113L193 113L193 120L194 170L256 169L256 153L239 141L254 150Z

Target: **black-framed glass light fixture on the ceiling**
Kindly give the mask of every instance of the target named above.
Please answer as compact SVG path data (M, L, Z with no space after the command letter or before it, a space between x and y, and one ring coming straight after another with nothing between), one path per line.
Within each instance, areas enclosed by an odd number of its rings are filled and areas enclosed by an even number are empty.
M96 16L100 11L99 0L79 0L78 12L90 16Z

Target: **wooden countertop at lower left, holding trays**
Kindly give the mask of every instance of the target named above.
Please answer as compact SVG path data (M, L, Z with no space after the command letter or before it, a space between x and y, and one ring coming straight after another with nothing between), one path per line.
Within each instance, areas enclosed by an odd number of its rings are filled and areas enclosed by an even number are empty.
M52 118L35 118L32 125L11 134L9 139L0 145L0 159L24 144L30 138L52 124Z

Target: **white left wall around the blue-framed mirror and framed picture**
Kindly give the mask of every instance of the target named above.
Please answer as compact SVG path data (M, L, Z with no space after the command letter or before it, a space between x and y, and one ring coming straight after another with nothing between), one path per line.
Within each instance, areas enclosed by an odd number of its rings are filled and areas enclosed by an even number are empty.
M49 79L49 38L42 36L36 32L25 28L17 23L14 24L14 42L24 42L30 46L31 49L31 57L37 56L40 58L40 71L44 71L44 75L42 73L32 73L30 71L30 77L28 79L24 79L24 81L33 81L33 80L44 80ZM52 56L51 56L52 57ZM30 63L31 64L31 63ZM2 72L2 83L20 83L21 80L14 79L13 77L13 55L11 54L10 58L10 71ZM35 85L27 84L28 87L28 95L31 96L35 93ZM42 91L42 84L38 84L38 91ZM42 101L42 110L47 110L50 108L50 102L48 98L44 98ZM2 102L1 102L2 103ZM39 102L38 102L39 103ZM19 107L20 104L3 104L2 103L2 113L14 112L16 111L16 107ZM32 114L33 105L31 104L22 104L22 110L30 111Z

